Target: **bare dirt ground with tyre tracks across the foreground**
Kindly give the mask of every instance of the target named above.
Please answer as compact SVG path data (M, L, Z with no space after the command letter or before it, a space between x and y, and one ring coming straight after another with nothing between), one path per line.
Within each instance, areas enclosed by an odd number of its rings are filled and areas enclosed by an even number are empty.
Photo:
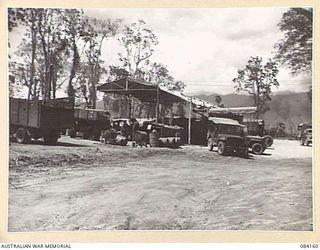
M63 137L10 144L9 231L313 229L312 147L264 155Z

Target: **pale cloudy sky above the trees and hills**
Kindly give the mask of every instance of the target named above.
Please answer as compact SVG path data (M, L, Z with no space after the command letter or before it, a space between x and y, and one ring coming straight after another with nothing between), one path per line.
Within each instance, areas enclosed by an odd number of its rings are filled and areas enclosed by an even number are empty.
M168 66L176 80L187 84L185 94L235 93L232 79L250 56L273 56L283 33L277 27L287 8L215 9L85 9L97 18L121 18L125 24L146 22L159 39L150 60ZM13 34L10 34L13 35ZM113 39L104 43L105 66L118 64L121 48ZM280 68L280 87L274 91L308 91L311 76L291 77Z

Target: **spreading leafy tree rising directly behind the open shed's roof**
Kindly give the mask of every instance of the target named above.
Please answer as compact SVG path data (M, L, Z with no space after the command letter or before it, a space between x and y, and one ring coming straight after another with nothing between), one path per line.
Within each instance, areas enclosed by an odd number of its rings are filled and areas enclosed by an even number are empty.
M169 90L183 91L185 83L176 81L166 65L152 62L151 56L159 41L157 36L147 29L143 20L126 25L118 41L125 53L119 53L121 66L110 66L110 79L130 76L166 87Z

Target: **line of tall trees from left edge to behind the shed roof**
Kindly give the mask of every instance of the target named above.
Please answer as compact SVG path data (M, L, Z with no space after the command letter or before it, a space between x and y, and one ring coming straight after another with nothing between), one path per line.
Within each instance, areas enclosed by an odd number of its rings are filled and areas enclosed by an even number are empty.
M15 51L19 61L9 58L11 95L25 86L29 99L54 99L63 89L95 108L103 76L131 76L179 91L185 87L165 65L151 61L158 38L143 20L124 25L120 19L88 17L78 9L10 8L9 32L16 27L24 27L25 34ZM119 53L121 66L105 68L102 46L112 38L126 53Z

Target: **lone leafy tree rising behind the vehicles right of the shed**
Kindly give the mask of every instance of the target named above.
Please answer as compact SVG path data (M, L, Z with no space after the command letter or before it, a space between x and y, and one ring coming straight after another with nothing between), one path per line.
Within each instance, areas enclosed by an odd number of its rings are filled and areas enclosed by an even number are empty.
M279 86L276 78L278 72L272 60L263 64L261 57L251 57L246 67L239 69L238 76L233 79L237 92L245 91L253 96L258 115L268 109L266 103L271 101L271 87Z

